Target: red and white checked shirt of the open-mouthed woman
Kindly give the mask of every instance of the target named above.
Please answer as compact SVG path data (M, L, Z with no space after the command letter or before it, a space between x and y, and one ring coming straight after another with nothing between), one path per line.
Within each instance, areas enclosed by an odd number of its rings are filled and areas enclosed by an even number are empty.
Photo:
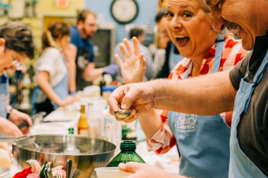
M202 65L200 68L199 75L211 74L214 65L214 57L216 52L216 43L211 47L210 50L204 55ZM248 51L242 47L241 40L234 39L233 34L225 35L224 48L222 51L222 59L219 67L219 71L230 71L245 55ZM169 74L171 80L182 80L184 79L187 69L190 66L191 59L184 58L180 61L175 68ZM174 145L177 144L176 139L167 124L168 111L160 111L162 118L161 128L152 136L151 139L147 140L148 150L155 150L157 154L163 154L169 151ZM224 112L220 116L222 119L231 126L233 112Z

